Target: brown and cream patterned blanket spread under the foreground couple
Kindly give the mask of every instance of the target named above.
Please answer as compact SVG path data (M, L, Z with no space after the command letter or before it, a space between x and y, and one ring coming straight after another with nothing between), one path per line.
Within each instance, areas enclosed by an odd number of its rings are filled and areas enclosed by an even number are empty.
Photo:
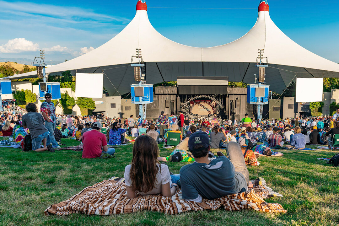
M280 204L266 203L263 200L273 196L282 197L281 194L267 187L262 178L253 183L255 188L249 188L248 192L232 194L215 200L203 199L201 203L196 203L183 200L180 189L172 197L141 196L137 193L136 198L128 199L124 179L113 177L86 187L66 201L49 206L45 214L69 215L81 212L87 215L110 215L148 210L172 215L190 210L217 210L221 207L228 211L253 209L263 212L287 212Z

